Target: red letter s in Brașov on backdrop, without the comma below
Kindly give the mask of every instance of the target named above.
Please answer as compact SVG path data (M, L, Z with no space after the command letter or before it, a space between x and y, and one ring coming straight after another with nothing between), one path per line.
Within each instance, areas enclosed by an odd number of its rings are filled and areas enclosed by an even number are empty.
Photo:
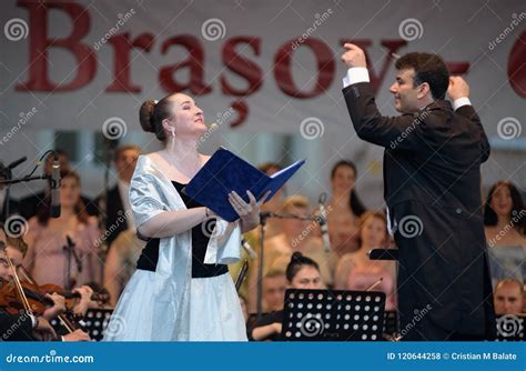
M223 47L224 66L226 66L226 68L232 72L244 78L246 82L249 82L249 87L246 89L235 89L226 80L224 74L222 74L221 90L225 94L246 97L260 90L263 84L263 71L256 63L244 58L235 50L235 47L239 44L245 46L243 47L243 50L250 47L255 56L260 56L261 39L251 37L232 38L227 40Z

